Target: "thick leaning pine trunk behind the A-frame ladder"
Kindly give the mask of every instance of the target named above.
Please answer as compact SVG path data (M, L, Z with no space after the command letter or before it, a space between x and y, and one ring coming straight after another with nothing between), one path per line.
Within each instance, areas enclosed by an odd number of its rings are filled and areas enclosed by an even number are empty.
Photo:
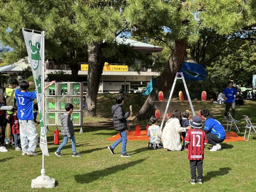
M162 91L165 97L167 97L172 87L176 72L180 70L181 64L184 60L186 48L186 41L174 41L172 55L170 56L168 64L165 66L162 74L156 81L155 87L140 109L139 114L136 117L137 120L149 119L150 116L155 115L156 108L153 101L158 100L159 91Z

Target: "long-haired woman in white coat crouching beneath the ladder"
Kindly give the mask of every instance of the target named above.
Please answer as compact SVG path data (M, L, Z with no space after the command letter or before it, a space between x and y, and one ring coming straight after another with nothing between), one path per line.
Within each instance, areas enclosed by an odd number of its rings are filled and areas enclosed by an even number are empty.
M181 150L180 132L185 132L186 129L191 128L190 126L181 127L181 121L180 111L174 110L171 118L165 123L162 133L162 141L165 149L170 151Z

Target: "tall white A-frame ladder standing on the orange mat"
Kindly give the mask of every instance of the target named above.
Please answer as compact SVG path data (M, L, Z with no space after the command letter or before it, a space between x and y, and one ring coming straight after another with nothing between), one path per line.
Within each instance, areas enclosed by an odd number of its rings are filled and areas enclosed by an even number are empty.
M181 77L178 77L179 75L180 75ZM186 90L186 93L187 93L187 96L188 96L188 101L189 101L189 105L190 105L191 111L192 111L192 113L193 113L193 116L196 116L195 111L194 111L194 108L193 108L193 105L192 105L192 102L191 102L191 99L190 99L190 96L189 96L189 93L188 93L188 87L187 87L187 84L186 84L186 82L185 82L183 73L182 73L182 72L177 72L177 73L176 73L176 76L175 76L175 79L174 79L174 82L173 82L173 85L172 85L172 89L171 89L171 92L170 92L170 96L169 96L169 99L168 99L166 108L165 108L165 111L164 111L164 116L163 116L163 120L162 120L160 129L163 128L164 119L165 119L165 116L166 116L166 113L167 113L167 110L168 110L168 107L169 107L169 104L170 104L170 101L171 101L171 98L172 98L172 93L173 93L173 90L174 90L174 87L175 87L175 84L176 84L177 79L182 79L183 84L184 84L184 87L185 87L185 90Z

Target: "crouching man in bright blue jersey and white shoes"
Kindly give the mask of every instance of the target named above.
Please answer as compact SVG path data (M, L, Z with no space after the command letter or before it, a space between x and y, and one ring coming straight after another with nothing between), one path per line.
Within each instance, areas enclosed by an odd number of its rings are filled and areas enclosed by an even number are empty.
M220 150L220 143L222 143L226 138L223 125L215 117L210 115L208 109L202 109L200 112L205 120L204 132L206 133L208 143L212 145L210 151Z

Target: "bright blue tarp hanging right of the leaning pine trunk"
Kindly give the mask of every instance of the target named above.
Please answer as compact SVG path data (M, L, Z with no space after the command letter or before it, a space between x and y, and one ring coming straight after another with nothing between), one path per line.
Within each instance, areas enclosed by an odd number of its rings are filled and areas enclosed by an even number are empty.
M180 68L180 72L183 72L184 78L189 80L205 80L208 77L208 71L204 70L204 66L183 61Z

